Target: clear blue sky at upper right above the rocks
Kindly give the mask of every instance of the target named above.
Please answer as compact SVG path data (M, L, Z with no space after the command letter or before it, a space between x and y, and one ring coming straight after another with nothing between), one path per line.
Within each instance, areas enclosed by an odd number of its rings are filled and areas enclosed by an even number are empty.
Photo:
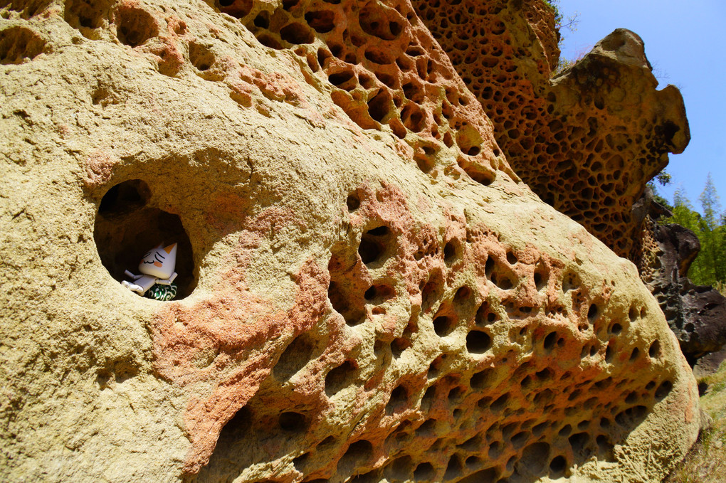
M683 94L691 140L682 154L670 154L673 181L658 191L669 200L679 185L696 210L706 176L726 206L726 1L724 0L560 0L564 17L579 14L576 31L563 30L563 56L574 59L616 28L645 42L653 73L663 88Z

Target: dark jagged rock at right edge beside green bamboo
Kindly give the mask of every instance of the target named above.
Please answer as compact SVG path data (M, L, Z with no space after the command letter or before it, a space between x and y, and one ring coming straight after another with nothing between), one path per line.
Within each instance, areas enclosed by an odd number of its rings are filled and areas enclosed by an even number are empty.
M686 276L701 244L693 231L661 225L664 207L650 204L643 228L640 276L656 296L681 350L693 366L698 358L726 344L726 297L711 286L697 286Z

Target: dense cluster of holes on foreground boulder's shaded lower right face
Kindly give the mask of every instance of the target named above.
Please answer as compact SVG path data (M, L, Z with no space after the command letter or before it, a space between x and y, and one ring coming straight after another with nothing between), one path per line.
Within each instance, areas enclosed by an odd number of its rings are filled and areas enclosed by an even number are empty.
M370 213L370 202L356 191L347 197L346 208L351 214ZM376 392L381 410L367 420L365 432L349 439L331 434L325 424L314 425L319 417L318 396L301 400L298 391L302 388L295 384L306 381L298 374L319 367L327 346L320 334L303 333L288 344L274 366L274 383L243 408L252 426L237 436L237 446L229 446L230 452L256 447L261 434L275 437L277 431L286 442L271 458L292 454L294 478L306 483L556 479L593 456L615 461L615 445L672 391L672 379L660 371L661 342L634 342L639 339L632 337L646 316L638 302L632 302L624 318L611 318L603 300L589 300L574 271L555 277L546 261L524 263L515 249L505 248L487 259L482 273L489 293L499 297L497 307L497 298L481 300L473 286L452 287L448 282L454 279L449 271L460 270L460 261L488 232L472 231L465 239L429 239L418 247L405 247L395 224L379 218L362 223L357 246L335 247L329 265L334 310L330 316L343 315L344 330L355 332L356 337L377 337L360 330L377 315L372 309L409 300L399 297L383 275L387 268L399 266L396 263L403 258L417 263L439 260L421 281L420 289L429 297L422 297L417 317L409 321L404 334L391 342L375 340L378 368L362 366L362 359L351 355L327 360L322 371L315 369L324 379L320 397L335 411L347 411L343 408L351 395L362 394L371 379L387 380L384 374L396 368L393 384ZM531 279L521 278L526 267ZM364 279L373 282L359 283ZM537 293L554 284L571 305L545 308L541 300L507 302L510 297L514 300L523 284L530 284ZM548 310L554 315L579 313L585 328L552 325L547 318L537 318L537 313ZM494 335L503 334L507 327L510 340L526 347L531 356L521 358L511 347L494 344L500 340ZM423 374L420 368L397 366L396 360L415 347L423 331L433 331L442 342L459 340L460 349L440 350ZM573 346L582 348L582 360L563 369L568 366L563 356L572 354ZM593 375L582 370L583 365L592 364L602 371ZM372 375L371 370L378 372ZM269 407L265 401L279 394L288 394L289 404L283 404L283 409ZM381 437L382 432L387 436ZM224 441L227 445L231 440ZM211 466L214 461L213 457ZM240 471L253 463L259 462L242 458Z

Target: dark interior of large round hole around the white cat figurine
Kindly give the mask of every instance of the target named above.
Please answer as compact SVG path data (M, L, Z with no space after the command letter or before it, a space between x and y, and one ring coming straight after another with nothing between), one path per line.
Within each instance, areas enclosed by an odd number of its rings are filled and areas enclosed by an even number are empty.
M176 242L176 297L187 297L197 285L192 243L179 215L153 207L147 183L132 179L109 189L96 214L94 240L101 263L121 284L129 280L124 271L139 274L139 261L159 244Z

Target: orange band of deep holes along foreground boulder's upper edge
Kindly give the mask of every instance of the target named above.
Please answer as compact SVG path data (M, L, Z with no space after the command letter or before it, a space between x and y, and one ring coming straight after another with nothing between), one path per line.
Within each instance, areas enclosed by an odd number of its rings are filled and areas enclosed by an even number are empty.
M290 49L313 73L325 75L333 102L361 128L387 125L407 139L425 173L442 147L456 145L471 178L494 181L496 169L479 156L481 126L466 120L475 101L457 85L451 67L430 54L433 39L407 3L367 1L346 9L339 1L289 0L269 11L256 9L252 0L216 0L215 6L240 19L261 44Z

